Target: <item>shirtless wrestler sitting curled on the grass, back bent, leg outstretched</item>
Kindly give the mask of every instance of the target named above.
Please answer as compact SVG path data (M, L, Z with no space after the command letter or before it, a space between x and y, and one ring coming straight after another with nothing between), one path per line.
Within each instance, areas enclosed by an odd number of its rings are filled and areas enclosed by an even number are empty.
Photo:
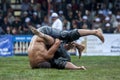
M28 47L28 56L30 60L30 65L33 69L35 68L59 68L59 69L74 69L74 70L86 70L84 66L76 66L72 64L68 58L56 58L54 59L54 54L60 47L61 41L59 39L53 39L51 36L46 36L49 41L44 40L42 37L36 35L31 39L30 45ZM47 48L46 45L52 45ZM57 52L60 54L59 51ZM64 55L63 55L64 56ZM62 60L61 60L62 59ZM57 61L56 63L54 63Z

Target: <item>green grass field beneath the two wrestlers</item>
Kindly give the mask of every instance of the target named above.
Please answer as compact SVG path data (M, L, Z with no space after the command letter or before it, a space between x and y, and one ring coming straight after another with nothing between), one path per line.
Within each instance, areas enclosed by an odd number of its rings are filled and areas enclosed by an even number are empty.
M120 80L120 56L72 56L76 65L86 71L36 69L29 66L27 56L0 57L0 80Z

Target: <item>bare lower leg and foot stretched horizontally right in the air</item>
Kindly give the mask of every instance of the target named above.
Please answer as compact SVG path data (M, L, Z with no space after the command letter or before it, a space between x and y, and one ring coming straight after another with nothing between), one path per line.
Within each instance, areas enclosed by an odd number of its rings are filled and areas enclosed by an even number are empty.
M78 32L79 32L80 36L95 35L102 42L104 42L104 37L103 37L101 29L97 29L97 30L78 29Z

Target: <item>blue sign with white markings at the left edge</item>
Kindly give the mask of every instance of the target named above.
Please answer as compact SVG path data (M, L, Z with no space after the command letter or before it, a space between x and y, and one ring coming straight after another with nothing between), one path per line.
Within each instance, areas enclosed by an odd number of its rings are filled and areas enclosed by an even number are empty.
M13 55L12 35L0 35L0 56Z

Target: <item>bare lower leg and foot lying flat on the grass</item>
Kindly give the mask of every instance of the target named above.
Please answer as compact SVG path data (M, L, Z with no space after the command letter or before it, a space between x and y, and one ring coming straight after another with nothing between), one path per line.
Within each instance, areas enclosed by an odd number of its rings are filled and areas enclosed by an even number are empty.
M71 62L67 62L65 65L65 69L72 69L72 70L86 70L84 66L76 66Z

